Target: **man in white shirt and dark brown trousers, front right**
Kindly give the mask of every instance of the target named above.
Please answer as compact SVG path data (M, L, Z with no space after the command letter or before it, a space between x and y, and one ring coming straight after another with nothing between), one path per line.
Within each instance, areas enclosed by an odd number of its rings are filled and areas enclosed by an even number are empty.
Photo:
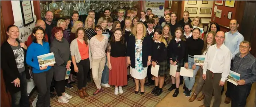
M230 71L230 60L232 54L223 44L225 33L219 31L215 36L216 44L210 46L204 59L203 79L204 86L204 104L199 107L210 107L211 99L214 93L214 102L212 107L220 107L221 87L225 84Z

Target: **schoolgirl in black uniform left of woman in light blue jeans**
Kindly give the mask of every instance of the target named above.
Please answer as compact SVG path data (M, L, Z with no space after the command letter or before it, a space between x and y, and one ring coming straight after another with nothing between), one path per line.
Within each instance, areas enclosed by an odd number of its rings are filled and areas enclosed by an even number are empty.
M181 66L184 64L184 55L186 50L186 42L183 37L183 29L181 27L177 27L175 29L175 39L172 39L169 44L169 58L170 63L172 65L177 65L177 72L175 74L175 77L172 76L172 83L173 85L168 89L169 91L172 91L176 88L175 92L173 93L173 97L178 96L178 88L180 85L180 70Z

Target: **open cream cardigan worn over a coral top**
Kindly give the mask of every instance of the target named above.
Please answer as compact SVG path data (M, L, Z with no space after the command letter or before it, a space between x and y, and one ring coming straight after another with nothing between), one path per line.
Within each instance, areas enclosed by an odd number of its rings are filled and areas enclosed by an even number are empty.
M90 44L90 41L89 39L87 40L88 42L88 47L89 47L89 44ZM75 38L71 44L70 44L70 55L71 56L75 56L75 62L76 63L79 63L80 60L82 59L81 58L81 55L80 55L80 52L79 52L79 49L78 49L78 41L77 41L77 38ZM91 49L89 47L89 60L90 60L90 69L92 68L92 56L91 56Z

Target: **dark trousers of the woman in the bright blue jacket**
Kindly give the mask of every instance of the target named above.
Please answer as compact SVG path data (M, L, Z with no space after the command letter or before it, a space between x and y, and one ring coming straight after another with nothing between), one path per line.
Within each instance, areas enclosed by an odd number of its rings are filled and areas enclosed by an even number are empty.
M38 91L36 107L49 107L53 68L41 73L33 73L33 76Z

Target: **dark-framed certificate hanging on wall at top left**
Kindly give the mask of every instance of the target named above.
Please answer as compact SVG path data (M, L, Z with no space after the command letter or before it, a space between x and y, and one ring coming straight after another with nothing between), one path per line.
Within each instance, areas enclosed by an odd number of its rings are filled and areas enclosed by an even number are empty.
M34 22L31 1L20 0L20 8L24 27Z

